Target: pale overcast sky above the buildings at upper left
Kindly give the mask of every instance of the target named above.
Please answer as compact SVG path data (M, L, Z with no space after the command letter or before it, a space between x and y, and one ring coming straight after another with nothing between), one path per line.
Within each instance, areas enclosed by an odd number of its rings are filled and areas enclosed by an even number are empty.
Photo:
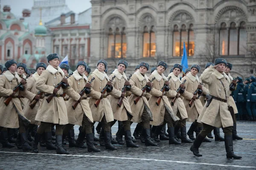
M0 0L2 10L3 6L9 5L11 12L17 17L22 16L23 9L31 10L33 2L33 0ZM92 6L90 0L66 0L66 4L75 13L83 12Z

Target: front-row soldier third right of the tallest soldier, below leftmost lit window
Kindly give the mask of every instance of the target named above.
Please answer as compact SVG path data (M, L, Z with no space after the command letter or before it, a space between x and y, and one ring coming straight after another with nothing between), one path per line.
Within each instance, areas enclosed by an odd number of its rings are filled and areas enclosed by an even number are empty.
M113 76L116 76L115 79L112 81L113 90L110 93L111 96L109 98L109 102L111 103L111 108L114 115L114 121L111 123L113 126L116 121L122 121L121 129L124 130L125 134L125 141L127 147L139 147L138 145L134 144L131 138L131 118L133 113L131 112L131 107L129 104L128 99L126 98L125 93L122 92L122 88L124 86L130 86L130 82L128 81L125 75L125 69L127 69L128 63L124 60L119 60L117 63L117 69L113 71L113 73L109 76L111 79ZM119 98L122 97L122 104L119 107L117 105ZM122 130L119 130L120 135L116 135L117 141L118 136L122 138Z

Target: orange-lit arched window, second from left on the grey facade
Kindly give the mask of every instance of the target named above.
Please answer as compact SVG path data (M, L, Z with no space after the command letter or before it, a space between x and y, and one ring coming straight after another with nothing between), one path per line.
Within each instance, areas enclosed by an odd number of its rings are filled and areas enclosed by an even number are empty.
M154 26L148 29L144 27L143 32L143 57L154 57L156 55L156 36L153 31Z

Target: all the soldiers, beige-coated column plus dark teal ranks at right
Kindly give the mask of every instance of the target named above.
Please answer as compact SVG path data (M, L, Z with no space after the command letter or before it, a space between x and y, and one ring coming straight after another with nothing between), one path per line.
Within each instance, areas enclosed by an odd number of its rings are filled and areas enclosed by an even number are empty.
M240 159L233 151L233 140L242 139L237 135L236 120L256 121L256 78L234 79L232 64L224 58L207 63L200 77L201 66L193 64L183 78L179 76L183 70L180 64L172 65L166 77L168 64L164 61L151 69L149 77L146 62L126 76L128 62L119 60L108 76L105 60L99 60L92 73L84 61L70 73L69 65L59 66L56 53L48 55L47 61L48 66L38 63L36 72L15 60L7 61L4 69L0 66L2 147L16 145L24 152L39 153L40 144L57 154L69 154L67 142L69 148L100 152L96 141L106 150L117 150L113 144L139 147L136 139L154 147L154 141L169 140L175 145L190 143L192 153L202 156L199 147L202 142L211 142L213 130L215 141L224 141L227 158ZM114 139L111 127L116 121ZM192 122L188 131L186 121ZM95 137L95 122L99 122L99 138ZM134 137L132 123L137 123ZM80 126L77 139L75 125Z

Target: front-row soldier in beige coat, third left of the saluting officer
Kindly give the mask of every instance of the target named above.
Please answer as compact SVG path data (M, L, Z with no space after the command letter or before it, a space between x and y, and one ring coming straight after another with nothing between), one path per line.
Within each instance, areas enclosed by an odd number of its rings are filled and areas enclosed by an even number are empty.
M153 81L153 89L151 89L151 98L148 100L148 104L153 113L153 121L150 123L154 126L158 126L156 130L157 136L160 134L160 130L163 126L166 125L168 127L168 137L169 144L181 144L179 141L176 141L174 138L174 126L175 123L179 120L179 118L174 114L172 107L168 100L168 95L161 92L161 89L166 84L167 88L166 93L169 91L169 81L163 75L163 72L168 68L168 65L164 61L160 61L157 65L157 70L154 70L152 74L149 76L149 80L155 78ZM157 99L161 97L161 101L159 105L156 105Z

